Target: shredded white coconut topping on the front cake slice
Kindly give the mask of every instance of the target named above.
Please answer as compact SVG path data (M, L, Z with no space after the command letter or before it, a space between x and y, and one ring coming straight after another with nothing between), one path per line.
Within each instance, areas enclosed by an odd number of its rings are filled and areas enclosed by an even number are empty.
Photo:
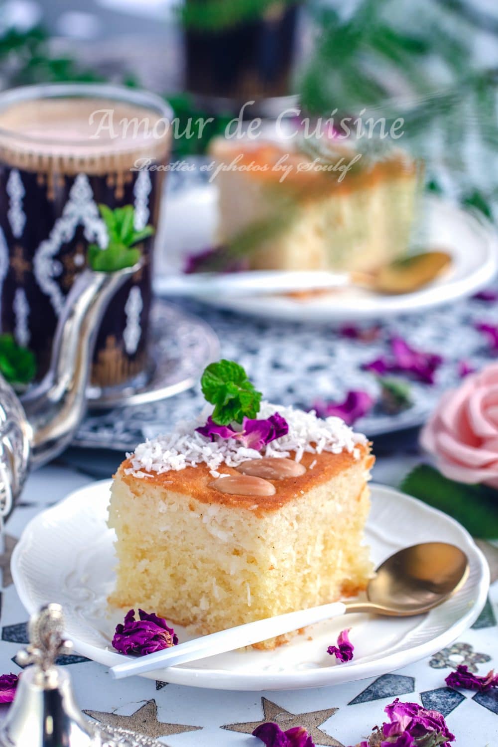
M262 402L258 418L270 418L276 412L287 421L289 432L271 441L262 451L246 448L235 438L215 436L215 440L210 441L196 433L196 427L206 421L204 412L196 421L185 424L174 433L156 436L139 444L133 454L126 455L131 460L131 468L126 470L126 474L146 477L148 472L163 474L170 470L196 467L202 462L211 471L217 472L220 465L238 467L247 459L261 459L263 456L288 458L292 452L295 453L296 462L302 460L305 452L320 454L323 451L334 454L348 451L357 459L356 445L367 443L365 436L355 433L340 418L317 418L314 410L304 412Z

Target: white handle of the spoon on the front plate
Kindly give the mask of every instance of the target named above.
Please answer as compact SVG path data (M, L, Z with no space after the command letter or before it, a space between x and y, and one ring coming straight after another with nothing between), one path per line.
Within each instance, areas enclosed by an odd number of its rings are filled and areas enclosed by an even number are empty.
M233 651L234 648L265 641L267 638L280 636L283 633L289 633L290 630L298 630L300 627L344 613L346 613L346 605L343 602L334 602L322 604L320 607L311 607L310 610L299 610L299 612L290 612L256 622L247 622L237 627L229 627L228 630L220 630L219 633L211 633L209 636L180 643L164 651L155 651L154 654L147 654L139 659L127 657L122 664L112 667L111 675L114 679L120 680L131 675L152 672L158 667L175 666L205 659L214 654L224 654L225 651Z

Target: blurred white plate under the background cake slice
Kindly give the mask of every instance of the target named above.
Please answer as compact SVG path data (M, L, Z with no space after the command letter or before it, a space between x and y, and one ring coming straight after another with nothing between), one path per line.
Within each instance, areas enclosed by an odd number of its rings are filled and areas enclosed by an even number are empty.
M168 195L158 240L155 292L166 294L168 275L181 272L188 253L213 246L217 224L217 187L202 185ZM453 258L449 273L426 288L402 296L382 296L346 288L311 300L287 296L201 297L205 303L243 314L290 321L344 322L385 319L415 313L483 288L498 269L498 240L482 214L428 195L423 210L423 245L445 249Z

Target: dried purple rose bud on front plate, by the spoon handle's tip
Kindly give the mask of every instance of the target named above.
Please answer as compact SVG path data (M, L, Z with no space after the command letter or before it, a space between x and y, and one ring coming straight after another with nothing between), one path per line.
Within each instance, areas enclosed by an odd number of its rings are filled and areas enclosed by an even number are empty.
M178 643L178 636L164 618L143 610L138 610L138 615L140 619L135 620L135 610L129 610L124 624L116 625L113 647L120 654L145 656Z

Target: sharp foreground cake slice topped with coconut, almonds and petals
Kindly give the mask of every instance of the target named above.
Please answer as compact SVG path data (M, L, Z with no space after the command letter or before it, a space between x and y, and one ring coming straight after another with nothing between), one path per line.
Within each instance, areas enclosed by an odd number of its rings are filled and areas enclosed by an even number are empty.
M365 588L367 439L340 418L269 403L241 425L208 418L140 444L119 467L111 604L212 633Z

